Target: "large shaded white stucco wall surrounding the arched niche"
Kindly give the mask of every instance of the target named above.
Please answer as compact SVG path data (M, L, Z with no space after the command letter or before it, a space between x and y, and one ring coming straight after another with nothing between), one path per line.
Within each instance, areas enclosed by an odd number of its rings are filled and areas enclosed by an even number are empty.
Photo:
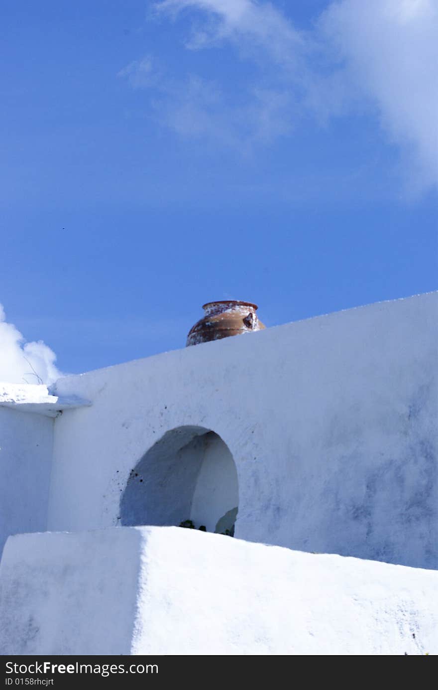
M419 295L59 380L92 406L55 420L49 529L120 524L132 469L199 426L237 466L238 538L437 568L437 316Z

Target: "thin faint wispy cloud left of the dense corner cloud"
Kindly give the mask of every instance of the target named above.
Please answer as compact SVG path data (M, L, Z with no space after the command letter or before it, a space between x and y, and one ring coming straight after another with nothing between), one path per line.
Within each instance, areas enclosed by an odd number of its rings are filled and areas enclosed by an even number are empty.
M188 50L230 41L241 59L252 61L259 70L244 87L239 102L230 93L229 81L221 84L194 74L178 81L157 72L150 56L132 61L118 76L127 78L133 88L152 87L157 121L183 137L217 141L247 153L257 142L266 143L290 132L295 121L291 117L295 99L292 75L299 88L306 70L301 52L308 50L310 41L268 3L168 0L155 5L159 14L174 18L187 8L206 10L203 21L192 23L185 43ZM261 76L264 72L270 75Z

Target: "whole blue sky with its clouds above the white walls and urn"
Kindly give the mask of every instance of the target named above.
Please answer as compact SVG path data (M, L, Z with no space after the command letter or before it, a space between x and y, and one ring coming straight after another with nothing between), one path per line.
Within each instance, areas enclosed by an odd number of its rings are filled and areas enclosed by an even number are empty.
M437 288L432 0L1 14L3 379L11 324L75 373L184 346L214 299L274 326Z

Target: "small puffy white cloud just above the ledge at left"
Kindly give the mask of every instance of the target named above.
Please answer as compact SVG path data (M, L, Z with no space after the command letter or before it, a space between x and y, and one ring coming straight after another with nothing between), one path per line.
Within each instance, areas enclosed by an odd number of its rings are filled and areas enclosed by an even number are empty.
M0 304L0 381L52 384L62 375L55 361L56 355L42 340L25 342L14 324L6 322Z

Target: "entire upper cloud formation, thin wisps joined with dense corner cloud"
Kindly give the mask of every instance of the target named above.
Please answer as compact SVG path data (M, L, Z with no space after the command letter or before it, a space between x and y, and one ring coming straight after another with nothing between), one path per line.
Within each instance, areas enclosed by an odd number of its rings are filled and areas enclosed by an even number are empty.
M326 124L366 108L403 152L411 179L415 171L419 187L438 183L435 0L339 0L307 32L264 1L162 0L155 12L190 18L187 50L228 44L254 68L238 99L229 81L158 78L151 57L121 70L134 88L152 88L161 123L179 135L247 150L290 135L303 119Z

